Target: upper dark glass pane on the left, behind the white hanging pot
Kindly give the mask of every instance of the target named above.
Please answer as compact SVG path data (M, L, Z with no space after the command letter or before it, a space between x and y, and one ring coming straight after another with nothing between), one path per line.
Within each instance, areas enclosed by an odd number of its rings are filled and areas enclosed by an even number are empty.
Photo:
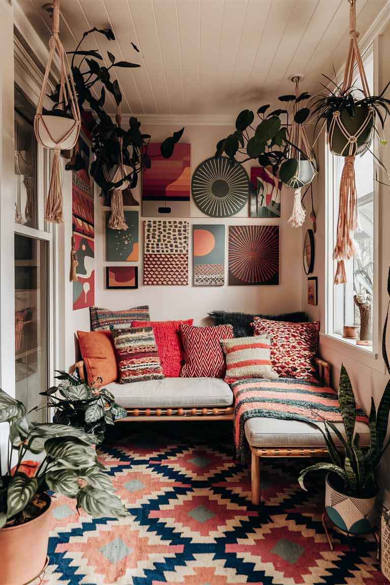
M15 89L15 222L37 228L37 141L34 109Z

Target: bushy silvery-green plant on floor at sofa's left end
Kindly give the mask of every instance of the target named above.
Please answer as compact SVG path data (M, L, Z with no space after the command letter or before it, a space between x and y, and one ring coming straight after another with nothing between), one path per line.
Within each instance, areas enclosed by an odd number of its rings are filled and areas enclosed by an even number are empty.
M94 435L96 443L104 439L106 425L113 425L115 420L127 417L125 408L115 402L113 394L102 388L102 378L89 386L81 380L76 370L73 376L59 371L55 376L60 384L40 394L47 396L49 407L55 409L53 422L84 429L88 435Z

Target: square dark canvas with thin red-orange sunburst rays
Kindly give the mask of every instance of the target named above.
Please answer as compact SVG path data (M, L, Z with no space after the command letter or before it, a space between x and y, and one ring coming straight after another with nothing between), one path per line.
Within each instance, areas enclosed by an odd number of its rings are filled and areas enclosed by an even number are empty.
M229 226L229 284L279 284L279 226Z

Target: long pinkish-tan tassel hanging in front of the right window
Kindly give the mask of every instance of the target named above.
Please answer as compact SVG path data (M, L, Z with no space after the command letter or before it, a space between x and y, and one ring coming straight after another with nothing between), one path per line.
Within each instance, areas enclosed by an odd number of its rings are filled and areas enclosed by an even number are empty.
M344 260L355 255L353 233L357 228L357 196L355 184L354 156L346 156L340 181L339 219L333 258L337 260L334 284L347 282Z

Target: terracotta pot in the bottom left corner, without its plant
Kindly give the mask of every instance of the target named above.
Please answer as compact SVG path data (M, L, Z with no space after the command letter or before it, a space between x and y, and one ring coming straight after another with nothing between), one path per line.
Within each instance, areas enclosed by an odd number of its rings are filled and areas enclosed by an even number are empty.
M44 494L47 508L37 518L0 529L0 583L23 585L30 583L46 563L50 528L50 497Z

